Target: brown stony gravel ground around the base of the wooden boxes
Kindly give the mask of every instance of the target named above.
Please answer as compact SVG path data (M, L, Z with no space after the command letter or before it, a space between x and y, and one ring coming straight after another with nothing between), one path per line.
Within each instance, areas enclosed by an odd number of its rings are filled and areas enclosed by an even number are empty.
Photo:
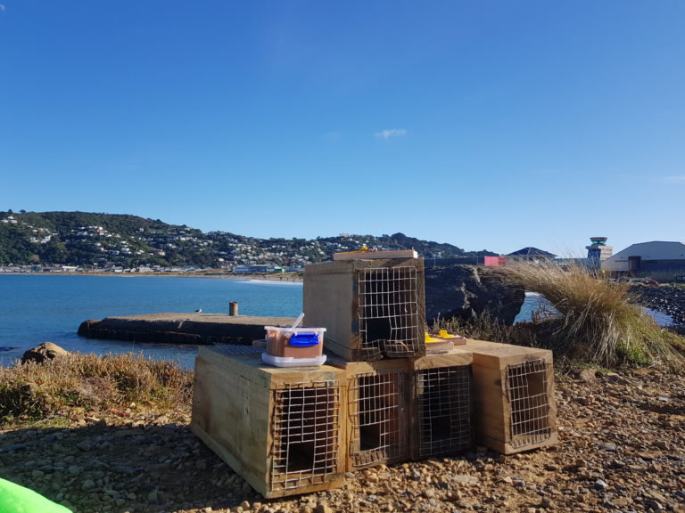
M176 418L76 412L69 428L0 432L0 476L77 512L685 512L685 378L557 375L559 444L349 474L337 490L265 501Z

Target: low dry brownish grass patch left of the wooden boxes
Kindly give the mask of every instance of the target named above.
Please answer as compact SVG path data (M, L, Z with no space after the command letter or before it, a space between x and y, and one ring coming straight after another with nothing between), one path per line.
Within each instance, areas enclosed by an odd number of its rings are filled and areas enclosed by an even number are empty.
M142 354L66 354L0 367L0 424L45 419L70 407L93 413L143 403L174 411L189 403L193 373Z

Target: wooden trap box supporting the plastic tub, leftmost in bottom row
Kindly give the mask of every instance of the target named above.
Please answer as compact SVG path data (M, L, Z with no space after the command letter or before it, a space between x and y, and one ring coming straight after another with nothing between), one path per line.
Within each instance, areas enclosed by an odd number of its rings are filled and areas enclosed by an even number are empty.
M280 369L201 347L191 428L267 499L332 489L344 481L344 379L326 365Z

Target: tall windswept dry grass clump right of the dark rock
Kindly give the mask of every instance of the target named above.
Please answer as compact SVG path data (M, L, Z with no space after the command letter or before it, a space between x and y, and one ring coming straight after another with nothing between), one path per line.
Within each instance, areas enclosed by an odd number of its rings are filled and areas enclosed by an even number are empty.
M509 276L538 292L557 310L536 317L539 338L576 362L602 367L660 365L685 369L683 340L661 327L629 293L629 284L608 281L581 265L508 265ZM542 337L540 337L542 335Z

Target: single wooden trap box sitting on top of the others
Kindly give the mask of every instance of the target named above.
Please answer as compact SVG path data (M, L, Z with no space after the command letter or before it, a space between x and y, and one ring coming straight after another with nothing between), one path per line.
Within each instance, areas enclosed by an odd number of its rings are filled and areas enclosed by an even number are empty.
M349 362L425 354L423 258L352 259L304 268L303 310L326 350Z

